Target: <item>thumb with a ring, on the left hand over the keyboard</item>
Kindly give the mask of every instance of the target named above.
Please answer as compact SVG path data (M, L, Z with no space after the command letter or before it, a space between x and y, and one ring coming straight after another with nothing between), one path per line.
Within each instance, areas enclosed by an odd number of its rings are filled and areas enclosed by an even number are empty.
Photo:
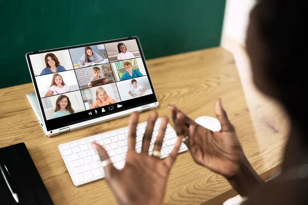
M115 167L113 167L107 151L102 146L96 144L95 142L92 142L91 146L92 146L92 148L94 148L95 150L98 151L99 156L101 158L101 161L105 161L105 162L108 163L108 160L109 160L109 164L104 166L106 178L109 179L109 178L112 178L113 176L115 176L116 174L118 174L119 170L117 170L117 169L115 169Z

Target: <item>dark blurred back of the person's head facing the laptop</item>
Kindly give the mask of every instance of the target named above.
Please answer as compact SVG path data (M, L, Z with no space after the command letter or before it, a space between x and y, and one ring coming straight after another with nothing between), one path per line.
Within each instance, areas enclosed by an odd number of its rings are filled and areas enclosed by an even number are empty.
M255 85L278 99L298 126L305 124L307 113L306 76L301 72L307 56L304 9L299 0L259 0L246 39Z

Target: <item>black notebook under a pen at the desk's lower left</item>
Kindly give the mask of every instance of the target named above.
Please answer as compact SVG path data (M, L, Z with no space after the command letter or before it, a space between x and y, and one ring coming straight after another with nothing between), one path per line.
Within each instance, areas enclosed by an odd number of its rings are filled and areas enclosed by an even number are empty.
M53 204L24 143L1 148L0 160L19 200L19 203L15 201L0 171L0 204Z

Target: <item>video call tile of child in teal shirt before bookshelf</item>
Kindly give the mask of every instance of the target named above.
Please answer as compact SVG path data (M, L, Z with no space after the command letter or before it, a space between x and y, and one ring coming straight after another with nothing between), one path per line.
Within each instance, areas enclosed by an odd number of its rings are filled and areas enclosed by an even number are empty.
M142 58L116 61L111 63L115 81L132 79L146 75Z

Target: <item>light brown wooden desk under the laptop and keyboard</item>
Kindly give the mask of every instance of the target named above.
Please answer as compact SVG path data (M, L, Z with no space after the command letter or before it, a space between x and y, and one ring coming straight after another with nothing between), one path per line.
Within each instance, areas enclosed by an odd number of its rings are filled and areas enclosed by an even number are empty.
M178 105L192 119L215 116L214 101L221 97L257 172L268 178L268 172L280 165L286 133L284 115L269 110L268 100L246 103L243 88L251 85L242 81L242 87L232 54L213 48L152 59L147 64L160 101L159 117L170 117L168 104ZM55 204L115 204L104 179L74 187L57 146L126 127L128 117L47 138L27 101L26 94L30 92L32 84L0 90L0 147L25 142ZM140 121L148 115L149 112L142 113ZM171 170L164 203L217 204L234 195L230 189L223 177L196 165L186 152L178 156Z

